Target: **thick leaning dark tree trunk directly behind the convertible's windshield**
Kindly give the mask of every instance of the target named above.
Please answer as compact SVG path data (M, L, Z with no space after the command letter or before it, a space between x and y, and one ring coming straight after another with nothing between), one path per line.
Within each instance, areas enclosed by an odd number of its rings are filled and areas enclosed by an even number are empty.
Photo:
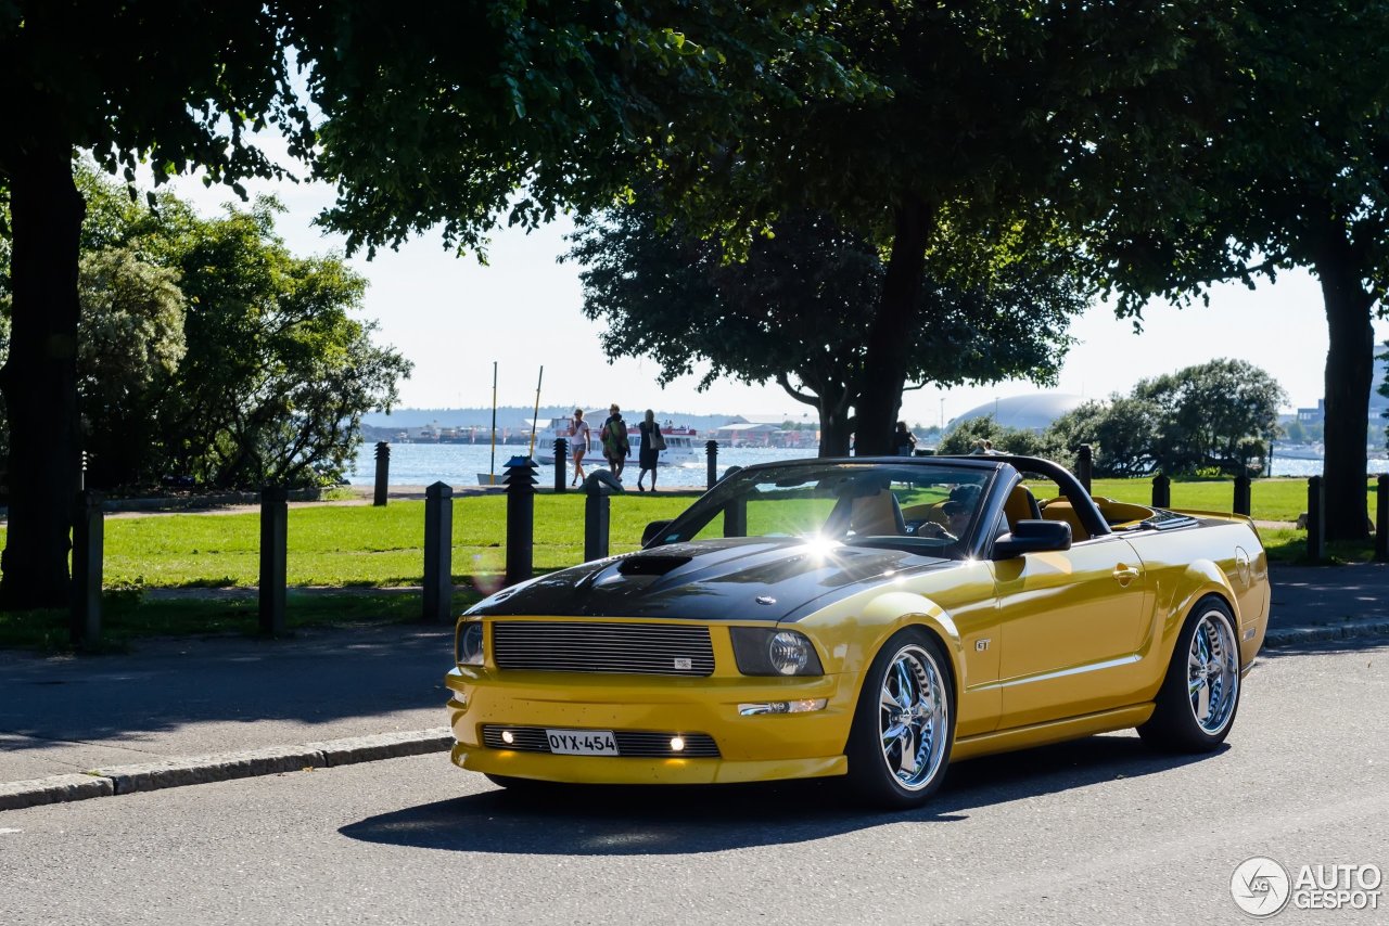
M883 278L878 314L868 330L864 387L856 407L854 453L860 457L892 453L892 432L907 385L907 330L920 323L917 304L931 236L931 210L917 199L897 207L892 257Z

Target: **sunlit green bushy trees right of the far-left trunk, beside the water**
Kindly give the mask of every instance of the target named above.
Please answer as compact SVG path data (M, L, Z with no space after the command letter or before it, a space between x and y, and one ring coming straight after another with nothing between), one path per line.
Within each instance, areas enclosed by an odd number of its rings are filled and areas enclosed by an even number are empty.
M336 257L292 255L274 200L201 219L168 193L157 212L136 205L81 162L78 176L88 485L340 480L361 415L394 403L410 372L353 318L365 280Z

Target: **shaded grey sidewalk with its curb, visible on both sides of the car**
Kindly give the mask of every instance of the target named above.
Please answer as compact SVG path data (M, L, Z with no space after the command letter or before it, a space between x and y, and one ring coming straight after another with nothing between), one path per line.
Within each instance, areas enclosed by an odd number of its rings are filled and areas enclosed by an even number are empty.
M1265 653L1389 643L1389 565L1275 566ZM1367 637L1350 641L1351 637ZM121 655L0 651L0 811L451 743L453 628L160 639Z

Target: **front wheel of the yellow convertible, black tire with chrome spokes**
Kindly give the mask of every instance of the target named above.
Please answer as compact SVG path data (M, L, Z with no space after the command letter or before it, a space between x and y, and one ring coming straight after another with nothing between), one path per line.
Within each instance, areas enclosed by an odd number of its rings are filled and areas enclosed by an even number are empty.
M849 786L874 807L921 807L940 787L954 746L954 686L940 643L895 633L864 676L849 733Z

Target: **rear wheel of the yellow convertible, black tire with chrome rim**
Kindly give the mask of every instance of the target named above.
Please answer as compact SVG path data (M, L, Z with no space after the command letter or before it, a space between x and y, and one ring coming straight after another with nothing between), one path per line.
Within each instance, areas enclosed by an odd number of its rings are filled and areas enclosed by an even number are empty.
M1239 633L1229 605L1196 603L1176 636L1153 716L1138 727L1147 743L1176 752L1210 752L1225 741L1239 709Z

